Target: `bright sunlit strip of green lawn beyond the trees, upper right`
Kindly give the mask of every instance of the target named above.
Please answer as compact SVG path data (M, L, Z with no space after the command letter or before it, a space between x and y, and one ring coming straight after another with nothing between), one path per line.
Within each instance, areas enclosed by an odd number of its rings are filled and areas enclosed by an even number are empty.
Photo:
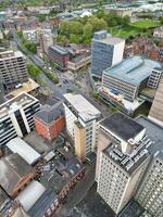
M137 28L154 28L154 27L161 26L161 24L159 21L142 20L142 21L131 23L130 26L137 27Z

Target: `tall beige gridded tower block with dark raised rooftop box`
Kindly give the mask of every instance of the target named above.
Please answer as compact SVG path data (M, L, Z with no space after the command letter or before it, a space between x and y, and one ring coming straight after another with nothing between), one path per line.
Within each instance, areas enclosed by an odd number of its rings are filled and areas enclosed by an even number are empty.
M118 214L135 195L150 159L152 140L146 128L115 113L100 123L111 142L101 149L97 170L98 193Z

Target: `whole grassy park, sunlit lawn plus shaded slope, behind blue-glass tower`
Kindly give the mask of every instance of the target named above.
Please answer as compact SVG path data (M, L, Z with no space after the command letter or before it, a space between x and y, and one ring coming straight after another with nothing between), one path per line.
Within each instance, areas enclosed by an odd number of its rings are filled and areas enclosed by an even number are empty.
M151 31L149 29L155 28L161 26L161 23L158 21L151 21L151 20L142 20L135 23L130 23L128 26L122 28L122 27L112 27L109 29L109 31L117 37L127 39L128 37L137 36L138 34L141 35L150 35Z

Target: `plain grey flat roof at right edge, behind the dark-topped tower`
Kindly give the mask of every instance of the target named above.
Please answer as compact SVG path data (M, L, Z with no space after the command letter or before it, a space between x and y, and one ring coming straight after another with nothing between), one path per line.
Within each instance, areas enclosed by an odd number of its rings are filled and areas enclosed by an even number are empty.
M146 128L146 133L154 141L149 151L154 154L156 151L163 150L163 127L145 116L137 117L136 122Z

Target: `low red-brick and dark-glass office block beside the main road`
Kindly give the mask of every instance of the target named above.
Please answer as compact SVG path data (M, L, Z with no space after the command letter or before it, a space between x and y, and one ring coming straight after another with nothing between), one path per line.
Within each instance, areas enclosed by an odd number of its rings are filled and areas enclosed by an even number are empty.
M66 49L60 46L51 46L48 49L48 55L60 69L65 71L67 68L70 53Z

